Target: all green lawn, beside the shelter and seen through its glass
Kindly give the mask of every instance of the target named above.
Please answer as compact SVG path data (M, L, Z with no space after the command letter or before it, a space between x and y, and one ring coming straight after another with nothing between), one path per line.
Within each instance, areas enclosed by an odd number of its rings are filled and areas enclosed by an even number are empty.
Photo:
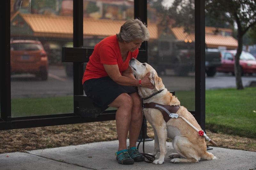
M181 105L195 110L195 92L175 92ZM256 138L256 87L205 92L205 126L212 132ZM112 108L110 108L112 109ZM73 97L12 99L12 117L73 113Z

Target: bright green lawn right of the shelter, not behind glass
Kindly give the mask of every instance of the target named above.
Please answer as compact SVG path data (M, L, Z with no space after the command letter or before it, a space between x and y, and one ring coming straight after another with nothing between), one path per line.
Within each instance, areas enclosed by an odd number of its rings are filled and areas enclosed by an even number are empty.
M205 92L205 126L213 132L256 138L256 88Z

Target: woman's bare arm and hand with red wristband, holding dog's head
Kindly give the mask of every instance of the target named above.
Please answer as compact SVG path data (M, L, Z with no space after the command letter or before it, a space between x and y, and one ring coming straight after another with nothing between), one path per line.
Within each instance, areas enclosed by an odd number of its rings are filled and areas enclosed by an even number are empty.
M135 77L132 75L131 68L128 67L130 70L125 70L124 76L122 76L119 72L118 65L108 65L103 64L106 72L108 73L108 76L117 84L119 85L126 85L126 86L139 86L139 80L136 80ZM151 84L148 76L150 73L148 73L143 79L141 79L141 85L143 87L151 88L153 85Z

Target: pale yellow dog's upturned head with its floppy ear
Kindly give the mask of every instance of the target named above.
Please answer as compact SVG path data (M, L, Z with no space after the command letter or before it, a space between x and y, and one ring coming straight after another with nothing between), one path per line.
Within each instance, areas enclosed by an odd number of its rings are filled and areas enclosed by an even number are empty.
M156 70L151 67L148 63L140 63L135 58L132 58L129 62L129 66L131 67L134 75L137 80L140 80L146 76L148 72L150 72L149 79L150 82L155 86L156 90L159 90L158 79ZM160 78L161 79L161 78Z

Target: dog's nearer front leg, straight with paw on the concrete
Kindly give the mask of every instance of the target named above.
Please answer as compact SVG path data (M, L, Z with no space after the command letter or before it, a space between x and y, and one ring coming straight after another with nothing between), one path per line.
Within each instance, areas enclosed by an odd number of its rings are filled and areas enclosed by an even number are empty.
M157 134L158 143L159 143L160 155L158 159L154 160L153 164L163 164L164 157L166 155L166 138L167 138L166 125L156 128L156 134ZM155 137L155 141L156 141L156 137Z

